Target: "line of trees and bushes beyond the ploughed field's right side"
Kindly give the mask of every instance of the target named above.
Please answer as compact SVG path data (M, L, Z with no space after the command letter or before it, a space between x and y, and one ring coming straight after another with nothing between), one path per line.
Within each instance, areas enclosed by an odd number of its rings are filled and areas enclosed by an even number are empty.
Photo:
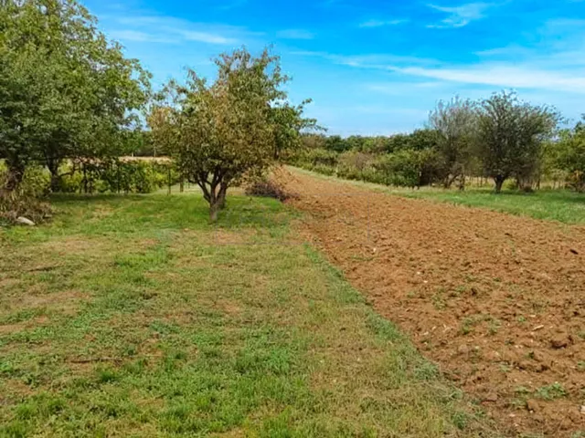
M453 185L469 178L506 180L530 190L542 180L585 189L585 125L559 129L558 111L531 105L515 93L479 101L439 102L426 126L409 134L303 136L290 162L317 172L390 185Z

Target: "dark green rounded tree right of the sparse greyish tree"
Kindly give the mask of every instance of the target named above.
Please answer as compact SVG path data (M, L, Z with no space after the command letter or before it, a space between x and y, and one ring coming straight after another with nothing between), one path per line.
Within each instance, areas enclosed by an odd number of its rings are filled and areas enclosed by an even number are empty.
M558 124L558 113L534 106L515 93L495 93L477 110L477 141L485 175L495 181L495 193L509 177L526 180L536 170L543 142Z

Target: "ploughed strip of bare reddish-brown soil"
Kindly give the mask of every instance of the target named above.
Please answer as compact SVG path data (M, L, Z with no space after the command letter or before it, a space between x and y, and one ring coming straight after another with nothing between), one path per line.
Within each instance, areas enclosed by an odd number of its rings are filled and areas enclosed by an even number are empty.
M509 433L585 431L585 227L278 178L349 281Z

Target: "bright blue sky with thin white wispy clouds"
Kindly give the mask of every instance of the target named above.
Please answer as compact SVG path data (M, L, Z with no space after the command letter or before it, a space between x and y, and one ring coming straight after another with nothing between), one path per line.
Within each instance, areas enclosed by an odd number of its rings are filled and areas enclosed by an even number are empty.
M585 112L585 0L86 0L154 87L213 57L271 45L290 99L330 134L424 126L439 100L514 89L571 121Z

